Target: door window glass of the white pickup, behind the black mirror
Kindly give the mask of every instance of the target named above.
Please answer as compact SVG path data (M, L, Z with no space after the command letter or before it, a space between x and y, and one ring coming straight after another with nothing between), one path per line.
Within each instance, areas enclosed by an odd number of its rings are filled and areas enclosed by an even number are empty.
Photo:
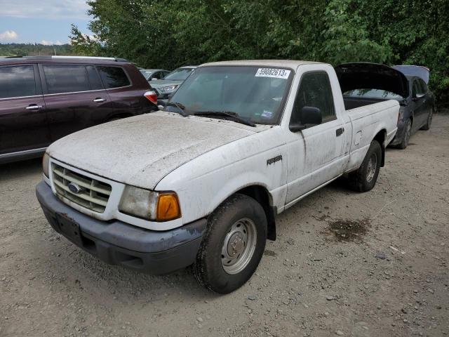
M318 107L323 123L337 119L332 88L326 72L309 72L302 76L290 123L301 123L303 107Z

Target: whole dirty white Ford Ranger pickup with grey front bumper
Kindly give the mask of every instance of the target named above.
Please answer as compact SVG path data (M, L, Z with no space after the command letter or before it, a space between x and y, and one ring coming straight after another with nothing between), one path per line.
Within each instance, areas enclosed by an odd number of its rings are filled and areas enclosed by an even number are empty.
M276 214L346 173L373 188L399 105L345 110L330 65L248 60L201 65L160 109L53 143L37 197L101 260L154 274L193 265L229 293L276 238Z

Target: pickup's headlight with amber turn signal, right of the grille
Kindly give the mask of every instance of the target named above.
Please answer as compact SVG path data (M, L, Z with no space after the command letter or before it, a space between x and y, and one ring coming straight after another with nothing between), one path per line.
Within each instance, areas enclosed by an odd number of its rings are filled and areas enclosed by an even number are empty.
M180 218L180 203L175 192L154 192L126 186L119 211L147 220L168 221Z

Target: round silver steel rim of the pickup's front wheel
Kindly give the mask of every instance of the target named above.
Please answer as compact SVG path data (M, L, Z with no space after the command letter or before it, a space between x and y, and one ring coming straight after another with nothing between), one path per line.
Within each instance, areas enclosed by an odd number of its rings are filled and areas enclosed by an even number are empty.
M255 252L257 230L253 220L242 218L229 229L221 251L222 267L227 274L235 275L250 263Z

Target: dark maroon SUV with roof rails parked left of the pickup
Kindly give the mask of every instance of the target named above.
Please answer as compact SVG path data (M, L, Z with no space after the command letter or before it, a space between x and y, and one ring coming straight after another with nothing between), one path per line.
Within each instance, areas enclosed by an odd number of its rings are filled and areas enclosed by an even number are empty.
M70 56L0 60L0 163L39 157L61 137L157 110L132 63Z

